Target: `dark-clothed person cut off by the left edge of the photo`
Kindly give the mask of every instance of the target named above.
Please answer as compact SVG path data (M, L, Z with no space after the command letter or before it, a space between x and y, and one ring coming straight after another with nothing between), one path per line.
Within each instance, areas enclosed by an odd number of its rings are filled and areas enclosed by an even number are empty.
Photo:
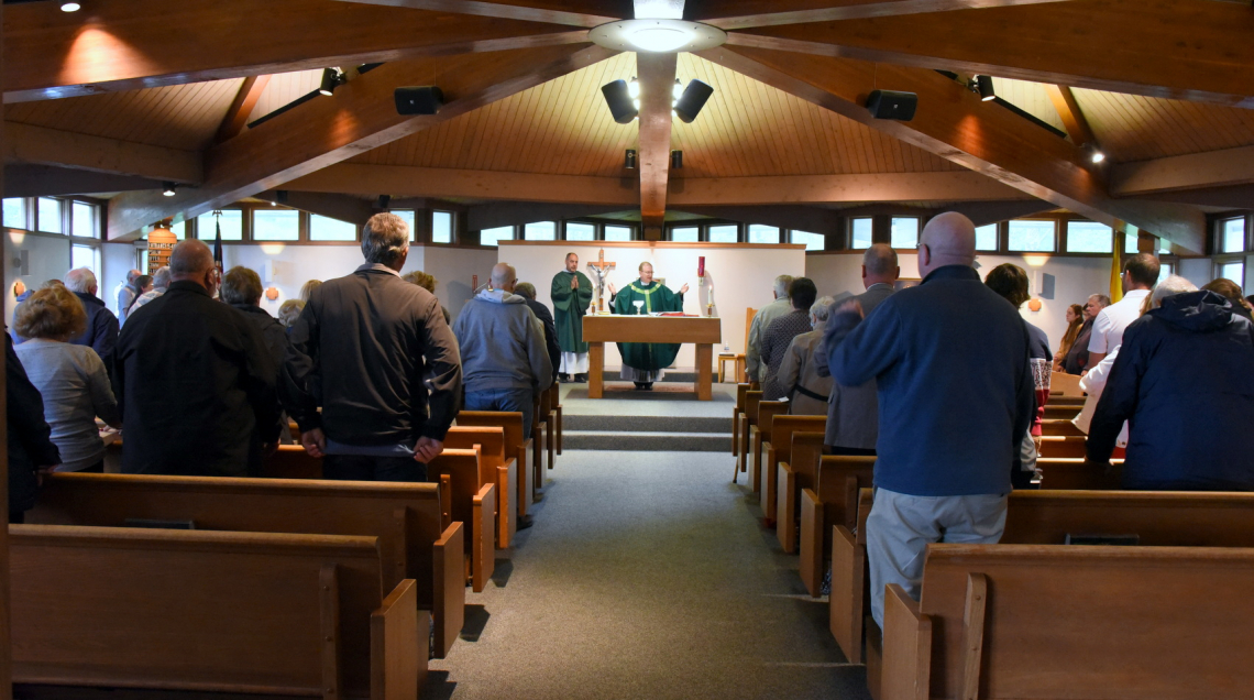
M30 383L26 370L5 335L5 393L9 401L9 522L23 522L35 506L39 472L51 472L61 463L53 444L53 429L44 420L44 399Z

